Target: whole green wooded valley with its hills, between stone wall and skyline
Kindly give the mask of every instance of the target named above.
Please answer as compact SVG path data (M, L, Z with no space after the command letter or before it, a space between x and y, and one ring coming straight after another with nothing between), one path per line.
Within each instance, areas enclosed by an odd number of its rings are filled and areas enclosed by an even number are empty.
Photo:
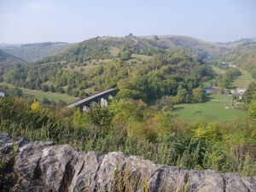
M253 176L254 44L129 34L90 38L28 63L3 52L0 130L79 150ZM212 86L207 95L205 87ZM108 106L63 108L112 88L117 93ZM239 88L247 88L242 98Z

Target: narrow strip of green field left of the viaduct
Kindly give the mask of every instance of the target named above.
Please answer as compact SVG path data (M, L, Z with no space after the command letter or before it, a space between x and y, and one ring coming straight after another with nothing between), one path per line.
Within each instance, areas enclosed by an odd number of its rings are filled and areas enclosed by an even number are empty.
M1 82L0 85L6 84L5 82ZM15 86L12 84L7 84L9 88L14 88ZM79 97L74 96L68 96L67 94L61 94L57 92L44 92L41 90L29 90L25 88L20 88L22 90L22 93L24 96L32 96L33 98L38 99L39 101L42 101L44 97L48 98L49 101L55 100L55 102L60 102L60 100L70 103L74 102L76 100L79 100Z

